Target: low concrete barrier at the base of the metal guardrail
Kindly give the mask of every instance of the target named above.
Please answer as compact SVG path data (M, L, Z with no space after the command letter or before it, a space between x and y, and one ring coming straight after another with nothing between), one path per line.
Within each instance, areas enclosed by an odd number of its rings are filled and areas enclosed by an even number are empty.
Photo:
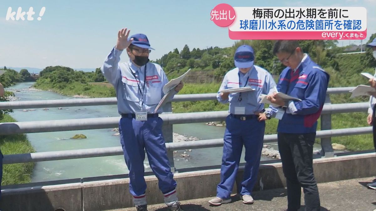
M375 153L318 158L314 160L314 172L319 183L369 177L376 175L376 168L372 167L374 163ZM243 169L241 166L237 184L240 184L243 178ZM220 170L176 173L174 178L177 181L179 200L214 197L220 181ZM158 179L155 176L146 176L145 179L148 203L163 203ZM280 188L285 185L281 163L260 166L254 190ZM233 193L237 193L240 189L237 189L238 185L234 186ZM61 207L66 211L99 211L133 206L128 178L34 188L5 188L1 200L3 210L55 210Z

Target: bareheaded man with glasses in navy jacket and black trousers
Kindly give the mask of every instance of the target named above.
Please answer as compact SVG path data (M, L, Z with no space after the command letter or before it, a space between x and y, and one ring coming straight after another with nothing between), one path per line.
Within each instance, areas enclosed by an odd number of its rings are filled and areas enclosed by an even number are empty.
M323 109L329 75L304 54L294 40L279 40L275 54L285 68L280 74L277 91L301 99L284 101L276 93L267 96L280 105L277 139L282 169L287 183L288 211L300 208L301 187L305 210L320 210L320 198L312 167L317 119Z

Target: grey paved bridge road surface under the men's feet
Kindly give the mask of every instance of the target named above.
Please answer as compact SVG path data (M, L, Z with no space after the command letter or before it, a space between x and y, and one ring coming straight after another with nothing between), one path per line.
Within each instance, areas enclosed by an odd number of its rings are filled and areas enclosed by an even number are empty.
M367 188L366 184L374 177L326 182L318 184L321 201L321 211L373 211L376 209L376 191ZM285 188L276 188L253 193L255 203L246 205L237 195L232 196L232 202L221 206L211 206L209 198L182 201L184 211L282 211L287 209L287 193ZM151 197L151 196L149 196ZM302 207L304 199L302 191ZM113 211L134 211L135 208L114 209ZM148 206L149 211L167 211L164 204Z

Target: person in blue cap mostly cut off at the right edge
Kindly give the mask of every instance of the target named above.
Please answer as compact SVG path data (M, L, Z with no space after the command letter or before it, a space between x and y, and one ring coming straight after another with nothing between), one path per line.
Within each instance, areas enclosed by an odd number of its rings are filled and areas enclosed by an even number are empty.
M366 46L369 47L369 48L372 48L373 57L374 57L374 59L376 59L376 38L374 38L373 41L371 43L368 43ZM375 69L375 75L374 76L376 76L376 69ZM373 88L376 88L376 80L374 78L371 78L369 80L369 83ZM374 124L374 122L375 122L375 110L376 110L376 99L375 99L376 92L372 92L371 94L372 95L370 96L370 107L368 108L367 122L368 122L369 125L372 125L373 145L376 149L376 124ZM376 189L376 179L373 182L367 184L367 187L372 188L372 189Z

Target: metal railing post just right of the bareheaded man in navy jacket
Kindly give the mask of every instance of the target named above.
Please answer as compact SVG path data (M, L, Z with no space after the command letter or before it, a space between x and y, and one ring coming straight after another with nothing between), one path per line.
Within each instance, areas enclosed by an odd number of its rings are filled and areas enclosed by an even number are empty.
M326 95L324 105L331 105L331 99L329 94ZM321 130L331 130L332 129L332 115L330 113L321 115ZM332 138L321 138L321 157L334 157L334 151L332 148Z

